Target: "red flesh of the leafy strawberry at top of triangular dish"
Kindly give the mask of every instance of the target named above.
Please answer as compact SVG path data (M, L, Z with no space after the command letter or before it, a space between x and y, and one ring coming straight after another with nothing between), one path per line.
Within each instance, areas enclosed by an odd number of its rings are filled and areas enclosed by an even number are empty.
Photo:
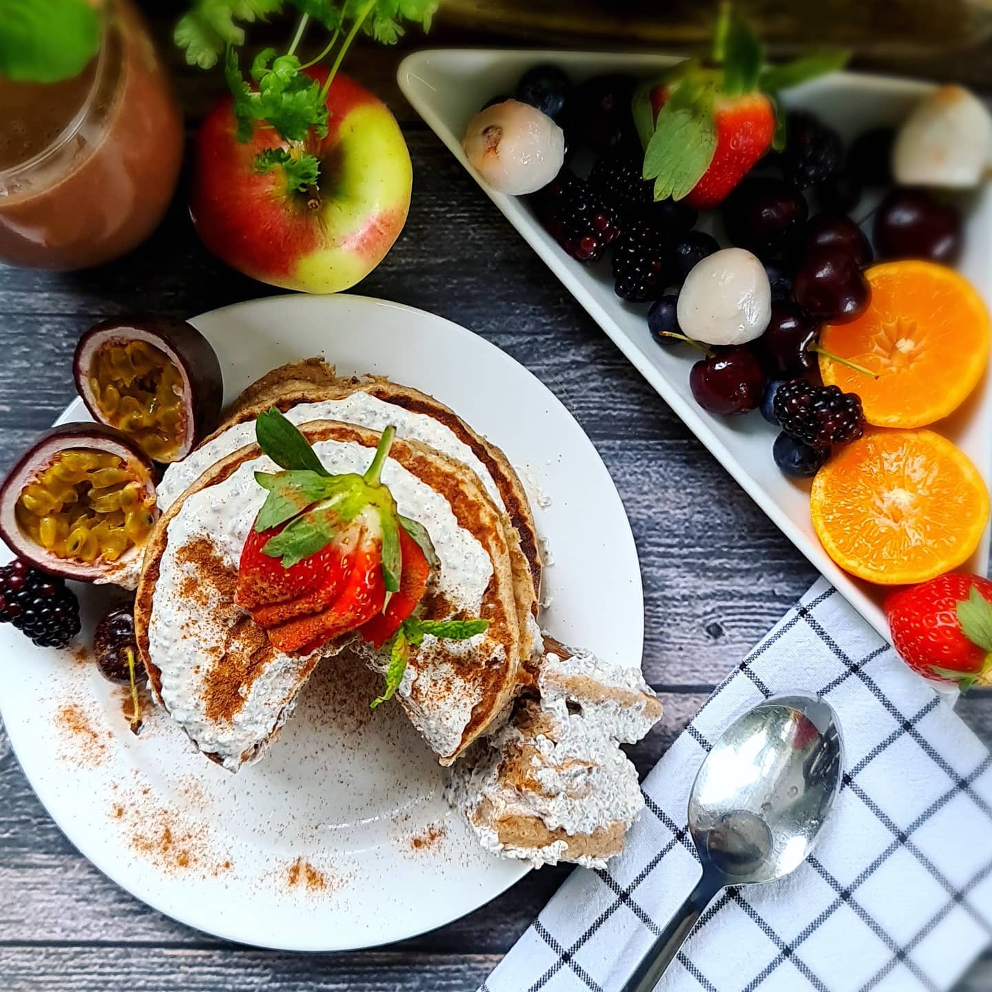
M721 97L713 106L716 151L685 202L704 209L722 203L771 148L775 108L764 93Z

